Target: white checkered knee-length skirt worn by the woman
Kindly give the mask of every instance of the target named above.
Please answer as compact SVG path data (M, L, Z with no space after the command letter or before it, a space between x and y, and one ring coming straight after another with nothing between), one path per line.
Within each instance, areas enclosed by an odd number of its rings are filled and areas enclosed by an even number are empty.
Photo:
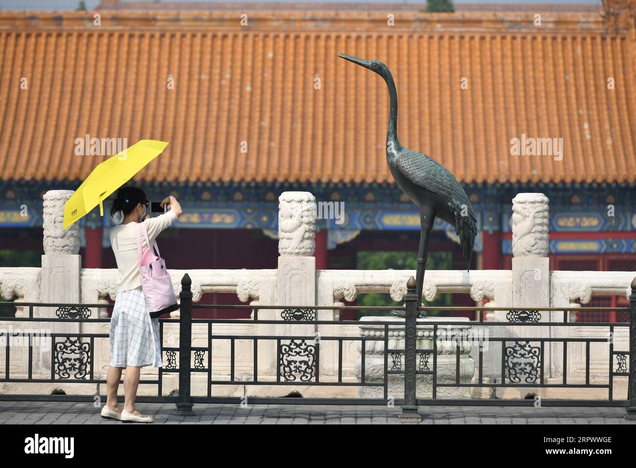
M159 319L151 318L141 287L120 291L111 317L111 365L113 367L162 367Z

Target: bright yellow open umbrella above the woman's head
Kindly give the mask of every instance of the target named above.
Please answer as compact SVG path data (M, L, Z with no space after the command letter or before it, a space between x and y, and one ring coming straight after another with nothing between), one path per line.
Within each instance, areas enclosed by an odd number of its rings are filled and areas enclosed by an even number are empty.
M115 190L141 171L151 160L163 152L170 143L153 139L142 139L113 157L100 162L88 174L76 192L64 206L64 224L66 229L99 204L99 214L104 216L102 202Z

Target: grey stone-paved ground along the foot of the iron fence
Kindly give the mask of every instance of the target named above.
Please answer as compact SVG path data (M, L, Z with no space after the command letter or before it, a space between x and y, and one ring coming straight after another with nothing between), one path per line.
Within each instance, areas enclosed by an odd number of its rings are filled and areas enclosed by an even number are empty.
M196 404L196 416L173 416L174 404L138 403L153 424L399 424L399 408ZM123 424L106 420L92 403L0 402L0 424ZM498 406L420 407L423 424L636 424L624 408L516 408Z

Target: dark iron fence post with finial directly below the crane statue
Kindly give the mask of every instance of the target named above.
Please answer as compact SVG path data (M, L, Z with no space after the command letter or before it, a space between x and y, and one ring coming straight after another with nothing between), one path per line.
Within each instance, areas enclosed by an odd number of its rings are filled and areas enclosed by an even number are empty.
M417 354L417 292L415 278L411 276L406 282L406 310L404 318L404 404L399 415L401 422L420 422L422 417L417 412L416 388L416 354Z

